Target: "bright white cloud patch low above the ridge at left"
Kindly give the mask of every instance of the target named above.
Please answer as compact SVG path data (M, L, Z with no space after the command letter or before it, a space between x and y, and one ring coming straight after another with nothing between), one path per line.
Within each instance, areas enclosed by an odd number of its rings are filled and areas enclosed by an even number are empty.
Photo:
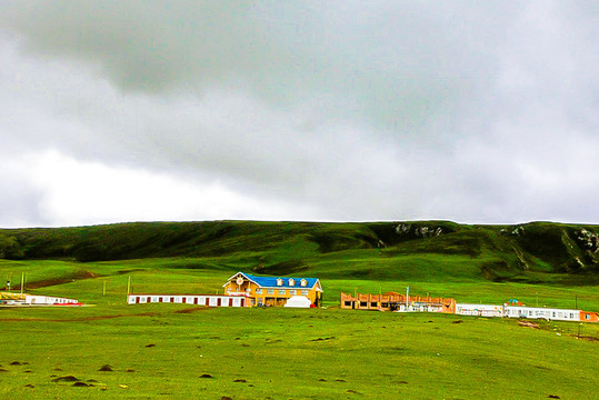
M48 226L279 220L291 213L300 219L318 219L315 208L293 201L256 199L218 181L188 181L166 173L82 162L58 151L23 154L13 159L12 164L28 166L19 178L40 194L38 212Z

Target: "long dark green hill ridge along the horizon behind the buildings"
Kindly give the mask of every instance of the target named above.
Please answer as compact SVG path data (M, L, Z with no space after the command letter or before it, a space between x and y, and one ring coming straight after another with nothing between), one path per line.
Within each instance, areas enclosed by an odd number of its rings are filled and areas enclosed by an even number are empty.
M81 262L210 258L232 262L231 268L239 264L273 274L318 271L328 263L322 273L337 276L343 274L339 266L351 263L348 277L372 274L381 279L396 273L393 269L408 268L408 263L415 273L419 273L417 268L428 268L449 274L448 266L468 264L472 273L495 281L531 280L536 272L585 276L596 281L598 232L598 226L552 222L136 222L0 229L0 258ZM338 270L332 270L333 264Z

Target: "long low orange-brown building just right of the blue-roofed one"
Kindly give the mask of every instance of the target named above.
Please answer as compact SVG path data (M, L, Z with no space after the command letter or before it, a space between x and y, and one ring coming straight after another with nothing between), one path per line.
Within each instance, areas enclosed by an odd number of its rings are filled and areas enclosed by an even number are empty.
M450 298L433 298L430 296L407 296L398 292L383 294L356 296L341 292L341 308L351 310L378 311L421 311L421 312L456 312L456 300Z

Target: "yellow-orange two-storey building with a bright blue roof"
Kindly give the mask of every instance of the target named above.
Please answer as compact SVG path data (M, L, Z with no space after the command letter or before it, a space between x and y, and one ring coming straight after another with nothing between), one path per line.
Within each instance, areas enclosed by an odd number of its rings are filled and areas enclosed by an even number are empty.
M286 306L296 297L305 297L315 307L322 302L322 286L318 278L257 277L237 272L222 286L228 296L250 299L248 306Z

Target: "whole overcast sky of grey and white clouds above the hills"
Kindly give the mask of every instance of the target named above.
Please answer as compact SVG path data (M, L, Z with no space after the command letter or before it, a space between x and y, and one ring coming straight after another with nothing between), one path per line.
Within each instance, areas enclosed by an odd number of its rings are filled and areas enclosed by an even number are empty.
M599 223L597 1L0 3L0 227Z

